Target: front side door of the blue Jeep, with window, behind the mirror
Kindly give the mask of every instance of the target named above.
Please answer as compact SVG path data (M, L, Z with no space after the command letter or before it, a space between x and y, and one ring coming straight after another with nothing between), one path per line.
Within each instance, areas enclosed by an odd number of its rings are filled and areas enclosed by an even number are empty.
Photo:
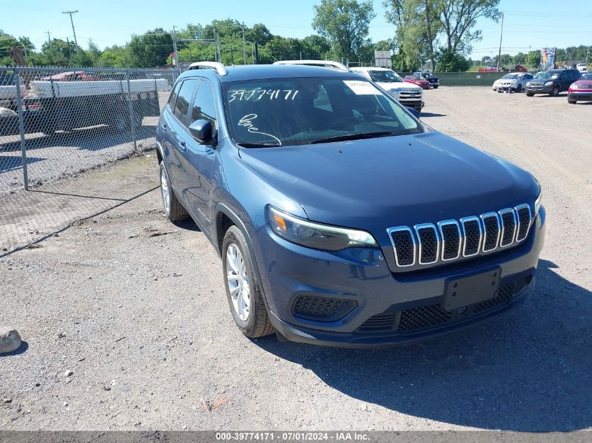
M202 78L195 97L189 107L188 124L196 120L207 120L212 123L214 134L218 132L214 89L209 80ZM191 207L202 229L212 229L212 191L216 169L216 148L213 145L202 145L191 140L183 151L184 181L182 183L186 200Z

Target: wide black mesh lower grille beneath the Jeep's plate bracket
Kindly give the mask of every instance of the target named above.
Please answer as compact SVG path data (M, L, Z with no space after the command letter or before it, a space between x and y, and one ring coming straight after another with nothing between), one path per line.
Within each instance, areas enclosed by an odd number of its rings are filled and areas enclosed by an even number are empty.
M446 323L464 320L471 316L509 304L514 295L524 290L532 281L532 276L525 276L501 286L490 300L472 304L456 311L446 311L440 304L406 309L404 311L377 314L366 320L359 332L378 332L380 330L415 331L434 328ZM398 320L398 321L397 321Z

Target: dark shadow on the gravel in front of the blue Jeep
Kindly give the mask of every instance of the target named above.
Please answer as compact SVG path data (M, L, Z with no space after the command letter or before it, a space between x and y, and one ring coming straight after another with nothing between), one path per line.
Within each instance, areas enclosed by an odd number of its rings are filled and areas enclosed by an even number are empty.
M482 429L592 426L592 293L547 260L523 309L448 337L386 350L259 339L324 383L369 404Z

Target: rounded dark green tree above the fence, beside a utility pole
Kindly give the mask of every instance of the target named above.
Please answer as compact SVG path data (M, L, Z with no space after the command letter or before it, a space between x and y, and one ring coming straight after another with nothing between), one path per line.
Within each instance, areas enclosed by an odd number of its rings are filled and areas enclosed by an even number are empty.
M141 36L134 35L128 43L132 66L151 68L163 66L173 50L172 36L162 28L148 31Z

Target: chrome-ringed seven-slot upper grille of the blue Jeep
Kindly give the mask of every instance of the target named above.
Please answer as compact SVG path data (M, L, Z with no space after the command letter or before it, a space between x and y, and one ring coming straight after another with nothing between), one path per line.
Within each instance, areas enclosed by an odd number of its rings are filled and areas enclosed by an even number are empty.
M460 221L443 220L436 225L420 223L413 228L391 227L387 232L397 267L408 267L433 265L515 246L528 237L531 223L530 206L520 204L481 216L463 217Z

